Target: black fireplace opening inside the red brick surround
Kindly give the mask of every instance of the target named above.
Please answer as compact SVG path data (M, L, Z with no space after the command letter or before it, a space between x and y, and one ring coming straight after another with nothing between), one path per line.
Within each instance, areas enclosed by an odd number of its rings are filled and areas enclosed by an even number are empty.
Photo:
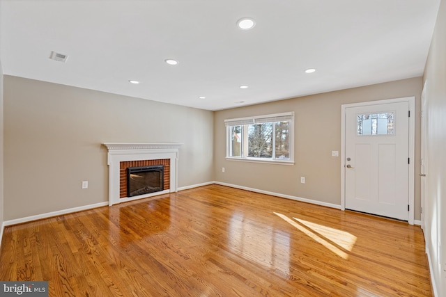
M164 190L164 166L127 168L127 197Z

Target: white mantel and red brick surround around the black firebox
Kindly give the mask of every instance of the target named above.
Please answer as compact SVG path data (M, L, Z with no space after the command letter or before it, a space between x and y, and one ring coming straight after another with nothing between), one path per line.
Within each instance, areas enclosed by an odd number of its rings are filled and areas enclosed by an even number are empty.
M180 143L103 143L108 149L109 205L176 192ZM125 169L133 166L164 165L164 191L125 197Z

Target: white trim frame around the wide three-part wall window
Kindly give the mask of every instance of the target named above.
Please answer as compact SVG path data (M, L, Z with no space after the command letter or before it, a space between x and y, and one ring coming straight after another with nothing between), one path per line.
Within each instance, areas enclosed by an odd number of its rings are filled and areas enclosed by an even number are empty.
M288 160L283 159L264 159L264 158L252 158L252 157L236 157L229 156L230 152L230 131L229 127L231 126L240 126L240 125L250 125L255 124L256 120L259 122L263 122L265 119L274 119L274 118L291 118L291 125L289 127L289 154L290 158ZM277 120L279 121L279 120ZM273 120L271 122L274 122ZM294 164L294 112L289 113L273 113L270 115L256 115L252 117L246 118L233 118L224 120L224 125L226 129L226 160L228 161L243 161L243 162L252 162L252 163L274 163L274 164L282 164L282 165L293 165Z

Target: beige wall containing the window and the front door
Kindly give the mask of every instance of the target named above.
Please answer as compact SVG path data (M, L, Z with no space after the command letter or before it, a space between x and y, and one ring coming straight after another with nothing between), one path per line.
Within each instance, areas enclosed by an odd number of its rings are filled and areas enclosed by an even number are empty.
M420 110L422 78L405 79L255 106L215 112L215 180L262 191L341 204L341 104L415 96ZM225 127L228 118L295 112L295 165L226 161ZM420 113L415 120L415 164L420 163ZM225 172L222 172L222 167ZM420 169L415 166L418 177ZM305 184L300 177L306 177ZM420 220L420 180L415 179L415 220Z

